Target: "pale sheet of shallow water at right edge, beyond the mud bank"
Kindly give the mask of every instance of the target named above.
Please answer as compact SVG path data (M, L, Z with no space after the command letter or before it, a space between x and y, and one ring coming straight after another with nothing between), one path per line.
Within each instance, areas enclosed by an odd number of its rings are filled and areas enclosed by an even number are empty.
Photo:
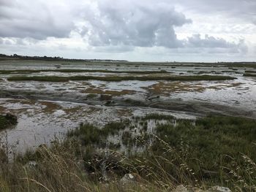
M230 86L231 83L241 83ZM213 104L237 107L247 111L256 112L256 81L240 77L237 80L225 82L205 82L207 89L203 92L172 93L171 97L184 101L207 101ZM214 88L216 87L217 88Z

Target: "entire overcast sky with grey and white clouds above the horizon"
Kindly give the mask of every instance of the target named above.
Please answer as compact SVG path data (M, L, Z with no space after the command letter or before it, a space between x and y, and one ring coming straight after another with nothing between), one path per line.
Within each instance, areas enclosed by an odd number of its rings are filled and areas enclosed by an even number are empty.
M0 53L256 61L256 0L0 0Z

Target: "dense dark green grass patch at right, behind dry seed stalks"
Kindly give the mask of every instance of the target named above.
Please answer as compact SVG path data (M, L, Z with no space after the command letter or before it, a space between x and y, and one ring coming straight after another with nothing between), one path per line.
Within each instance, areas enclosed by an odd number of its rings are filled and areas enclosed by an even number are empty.
M236 169L234 159L240 166L246 164L243 155L256 160L256 120L252 119L222 116L200 118L195 123L180 120L176 126L159 125L157 137L153 145L155 155L165 154L165 158L173 159L173 154L166 151L178 149L193 173L197 177L211 177L211 182L221 182L222 172ZM170 167L166 169L172 172ZM209 172L216 174L208 175ZM246 179L249 182L249 177Z

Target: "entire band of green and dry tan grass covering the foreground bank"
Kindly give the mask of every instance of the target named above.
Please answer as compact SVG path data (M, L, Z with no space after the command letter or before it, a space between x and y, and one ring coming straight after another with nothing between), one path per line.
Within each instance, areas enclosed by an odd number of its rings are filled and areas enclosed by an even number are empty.
M120 142L111 141L118 136ZM143 150L134 153L136 147ZM246 118L153 114L103 128L86 123L64 142L16 154L12 162L0 153L0 191L170 191L179 184L256 190L256 121ZM132 183L120 181L127 173Z

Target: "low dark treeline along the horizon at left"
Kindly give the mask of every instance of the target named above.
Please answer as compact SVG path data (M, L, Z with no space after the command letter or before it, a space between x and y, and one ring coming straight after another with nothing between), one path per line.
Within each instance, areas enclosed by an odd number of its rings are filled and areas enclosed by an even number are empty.
M40 61L115 61L115 62L127 62L125 60L111 60L111 59L75 59L75 58L61 58L61 57L48 57L48 56L27 56L27 55L4 55L0 54L0 60L4 59L18 59L18 60L40 60Z

